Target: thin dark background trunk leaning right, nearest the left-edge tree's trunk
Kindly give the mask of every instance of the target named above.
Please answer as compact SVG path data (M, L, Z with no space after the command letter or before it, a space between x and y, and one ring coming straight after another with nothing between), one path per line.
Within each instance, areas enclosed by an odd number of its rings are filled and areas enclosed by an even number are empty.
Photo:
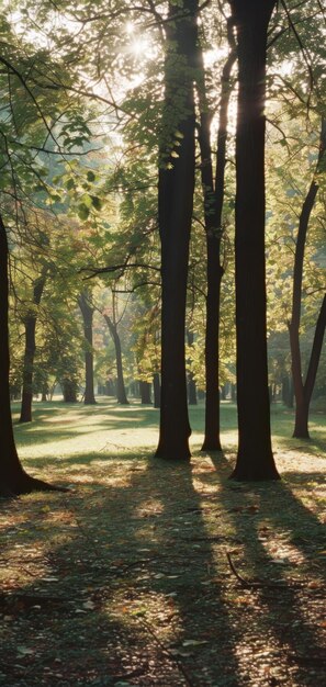
M41 303L47 268L44 267L41 277L35 279L33 284L33 305L38 306ZM33 376L34 376L34 358L35 358L35 330L37 314L35 308L32 309L24 318L25 327L25 351L23 363L23 393L20 423L32 421L32 401L33 401Z

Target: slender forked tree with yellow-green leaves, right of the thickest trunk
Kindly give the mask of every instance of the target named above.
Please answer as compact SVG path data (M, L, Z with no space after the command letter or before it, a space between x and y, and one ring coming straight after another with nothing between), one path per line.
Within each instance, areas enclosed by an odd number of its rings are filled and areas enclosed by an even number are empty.
M292 403L294 388L293 436L307 439L326 315L319 262L325 243L325 15L318 0L304 4L281 0L280 5L278 40L270 41L270 87L281 103L269 115L278 144L269 204L269 224L276 229L274 246L270 245L272 283L279 300L272 309L283 311L290 335L293 385L285 398Z

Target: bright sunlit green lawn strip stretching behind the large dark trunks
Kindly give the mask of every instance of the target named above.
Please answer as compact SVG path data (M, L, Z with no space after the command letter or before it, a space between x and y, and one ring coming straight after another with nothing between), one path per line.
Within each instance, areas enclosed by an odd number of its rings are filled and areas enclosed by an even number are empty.
M204 406L189 408L192 437L191 448L198 451L203 440ZM64 404L61 402L35 403L33 423L18 424L19 404L13 404L14 430L22 457L67 458L72 454L94 455L122 451L148 454L156 448L158 438L159 410L133 402L130 406L119 406L112 399L100 399L95 406ZM326 417L322 413L312 414L310 420L311 441L292 438L294 426L293 410L281 405L272 406L272 435L274 449L305 450L319 455L325 451ZM236 406L222 403L222 443L228 451L236 451L237 417Z

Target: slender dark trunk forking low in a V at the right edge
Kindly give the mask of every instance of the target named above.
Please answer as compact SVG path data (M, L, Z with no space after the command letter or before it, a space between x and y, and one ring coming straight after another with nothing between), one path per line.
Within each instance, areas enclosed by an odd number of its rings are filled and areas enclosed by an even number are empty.
M316 165L316 172L321 167L324 154L326 148L326 121L322 120L322 132L321 132L321 146L319 146L319 155ZM294 256L294 270L293 270L293 291L292 291L292 313L291 313L291 322L289 323L289 335L290 335L290 348L291 348L291 361L292 361L292 379L293 379L293 388L295 396L295 426L293 431L293 437L299 439L310 439L308 432L308 412L310 412L310 403L314 388L314 383L316 379L317 368L319 363L322 344L324 338L323 330L323 322L324 322L324 302L322 304L321 314L318 318L318 323L316 326L316 335L313 344L313 349L311 353L311 361L308 373L306 376L305 383L303 382L302 374L302 361L301 361L301 349L300 349L300 322L301 322L301 301L302 301L302 280L303 280L303 264L304 264L304 250L306 245L306 235L308 230L310 217L316 201L316 195L318 192L318 183L316 181L316 177L311 182L308 192L306 194L305 201L302 206L300 219L299 219L299 229L295 245L295 256ZM318 329L318 334L317 334ZM322 340L321 340L321 331ZM319 350L321 342L321 350Z

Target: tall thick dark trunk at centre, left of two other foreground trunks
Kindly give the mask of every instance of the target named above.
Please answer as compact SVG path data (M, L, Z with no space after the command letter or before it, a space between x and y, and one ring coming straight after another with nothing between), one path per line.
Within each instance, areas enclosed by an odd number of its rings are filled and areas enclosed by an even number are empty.
M169 2L158 216L161 243L161 405L158 458L188 460L186 297L194 191L193 66L198 0ZM177 144L176 145L176 138Z

